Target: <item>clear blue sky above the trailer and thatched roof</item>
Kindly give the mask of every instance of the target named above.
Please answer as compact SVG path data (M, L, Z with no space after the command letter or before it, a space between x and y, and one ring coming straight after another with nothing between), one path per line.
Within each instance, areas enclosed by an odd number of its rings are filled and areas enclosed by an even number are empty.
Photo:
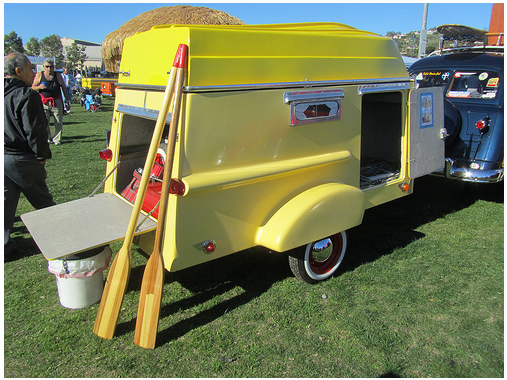
M224 11L247 24L339 22L385 35L420 30L423 3L4 3L4 34L26 43L51 34L102 43L128 20L162 6L188 4ZM427 27L464 24L488 29L492 3L429 3Z

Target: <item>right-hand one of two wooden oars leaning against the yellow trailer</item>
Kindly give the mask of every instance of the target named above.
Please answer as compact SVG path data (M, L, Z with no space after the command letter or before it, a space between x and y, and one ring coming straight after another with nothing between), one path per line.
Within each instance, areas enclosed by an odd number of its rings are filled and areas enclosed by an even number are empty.
M181 45L180 45L181 46ZM186 46L185 46L186 47ZM181 55L176 74L173 113L167 143L166 162L164 166L162 191L160 193L160 208L158 211L157 231L155 243L146 268L144 269L139 309L137 311L136 332L134 343L144 348L155 348L157 328L160 314L162 288L164 287L164 260L162 256L162 240L165 230L165 219L169 202L169 187L174 162L174 146L180 116L181 93L183 87L184 70L187 66L187 51Z

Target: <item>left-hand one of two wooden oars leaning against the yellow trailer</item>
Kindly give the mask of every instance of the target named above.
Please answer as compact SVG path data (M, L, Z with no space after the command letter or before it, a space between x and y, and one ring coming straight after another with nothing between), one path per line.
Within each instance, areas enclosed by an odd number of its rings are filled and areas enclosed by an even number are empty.
M181 54L180 48L178 48L175 62ZM153 131L153 137L151 139L150 148L144 164L143 175L137 191L134 208L132 209L127 232L125 233L125 240L123 241L122 247L116 254L111 268L109 268L109 274L102 293L99 311L97 312L97 319L95 320L95 326L93 327L93 332L102 338L111 339L116 328L116 321L118 320L123 296L125 295L125 289L130 276L130 249L132 246L132 240L134 238L136 223L139 218L139 214L141 213L146 189L148 187L151 169L155 163L158 146L160 145L160 140L164 131L167 113L169 112L169 105L175 81L175 71L176 70L173 69L169 74L169 79L164 93L164 101L158 114L155 130Z

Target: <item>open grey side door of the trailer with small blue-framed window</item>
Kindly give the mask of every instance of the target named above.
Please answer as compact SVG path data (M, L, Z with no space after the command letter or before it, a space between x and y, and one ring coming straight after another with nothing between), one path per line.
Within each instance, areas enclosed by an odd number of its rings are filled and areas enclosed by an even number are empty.
M410 92L410 177L418 178L445 166L444 95L441 87Z

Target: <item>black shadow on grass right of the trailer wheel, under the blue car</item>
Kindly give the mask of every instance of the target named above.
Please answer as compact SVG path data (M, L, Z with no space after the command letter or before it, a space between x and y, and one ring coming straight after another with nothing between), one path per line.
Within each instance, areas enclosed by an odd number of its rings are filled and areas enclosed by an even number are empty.
M420 226L465 209L479 200L504 202L503 182L477 184L426 176L414 193L366 210L363 223L348 231L349 247L341 273L352 271L421 239Z

